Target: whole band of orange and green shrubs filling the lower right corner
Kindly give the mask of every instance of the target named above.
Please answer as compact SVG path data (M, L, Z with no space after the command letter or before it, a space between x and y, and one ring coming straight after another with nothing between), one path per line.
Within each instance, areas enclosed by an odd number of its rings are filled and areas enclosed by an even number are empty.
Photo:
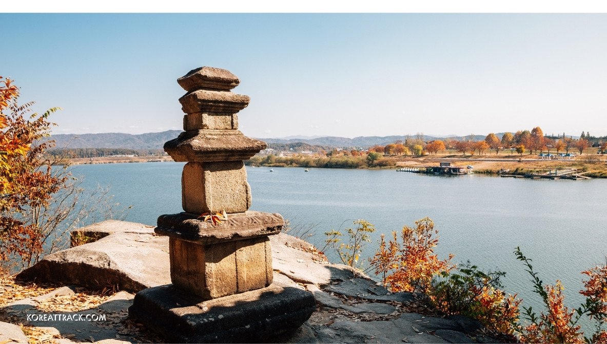
M450 263L452 255L439 260L433 250L438 245L438 230L432 220L426 217L415 224L415 228L403 227L400 236L393 231L388 242L382 234L379 249L370 259L375 274L390 291L425 293L436 311L472 317L486 328L517 336L524 343L607 343L607 331L602 329L607 319L607 265L583 271L588 280L580 294L586 296L586 302L570 309L565 306L561 282L543 285L531 259L517 248L517 259L527 265L534 291L546 306L540 316L531 307L523 307L521 313L523 300L503 291L500 277L505 273L481 271L470 262L456 268ZM526 323L520 322L521 315ZM596 331L589 337L578 325L582 316L597 322Z

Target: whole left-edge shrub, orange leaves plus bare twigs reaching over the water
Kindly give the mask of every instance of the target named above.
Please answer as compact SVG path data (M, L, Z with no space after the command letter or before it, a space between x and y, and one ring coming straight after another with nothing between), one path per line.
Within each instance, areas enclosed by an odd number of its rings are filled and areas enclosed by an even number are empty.
M46 154L54 142L42 139L58 108L29 114L33 103L18 105L18 89L1 80L0 270L8 271L18 260L23 268L58 250L73 228L113 217L115 204L107 190L87 193L67 166L57 166L60 159Z

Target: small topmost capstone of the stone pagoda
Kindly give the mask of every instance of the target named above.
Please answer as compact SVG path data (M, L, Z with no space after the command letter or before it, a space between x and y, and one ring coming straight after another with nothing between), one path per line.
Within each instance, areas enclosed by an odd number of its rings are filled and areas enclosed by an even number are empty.
M188 92L195 90L229 91L238 86L240 80L229 70L200 67L177 79L177 83Z

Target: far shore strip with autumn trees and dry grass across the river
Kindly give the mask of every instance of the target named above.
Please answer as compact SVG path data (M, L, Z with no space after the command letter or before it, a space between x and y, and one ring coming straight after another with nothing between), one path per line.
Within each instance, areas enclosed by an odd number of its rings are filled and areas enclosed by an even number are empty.
M305 149L305 150L304 150ZM49 151L64 164L112 164L171 161L163 150L126 148L73 148ZM546 135L540 127L516 133L489 133L424 141L423 134L373 147L322 147L302 144L269 144L246 165L253 167L304 168L397 168L438 164L452 159L453 165L470 165L475 173L542 173L546 170L577 168L588 177L607 177L607 137L582 132L579 138Z

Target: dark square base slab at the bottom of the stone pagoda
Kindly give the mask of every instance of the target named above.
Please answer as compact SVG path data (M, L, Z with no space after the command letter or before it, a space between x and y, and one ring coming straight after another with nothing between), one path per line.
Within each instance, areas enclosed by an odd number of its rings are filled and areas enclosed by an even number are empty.
M257 343L291 337L315 310L311 293L288 286L202 300L169 285L137 293L129 316L172 343Z

